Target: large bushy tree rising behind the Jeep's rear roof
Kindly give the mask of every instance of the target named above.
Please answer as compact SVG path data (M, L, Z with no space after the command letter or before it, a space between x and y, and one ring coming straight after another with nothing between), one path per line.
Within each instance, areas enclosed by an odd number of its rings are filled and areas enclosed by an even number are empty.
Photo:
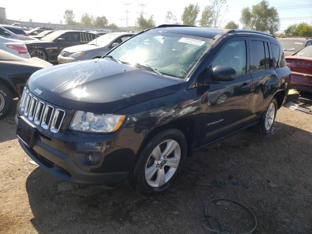
M275 34L280 25L280 19L275 7L269 7L266 0L253 5L252 9L245 7L242 9L240 22L244 28Z

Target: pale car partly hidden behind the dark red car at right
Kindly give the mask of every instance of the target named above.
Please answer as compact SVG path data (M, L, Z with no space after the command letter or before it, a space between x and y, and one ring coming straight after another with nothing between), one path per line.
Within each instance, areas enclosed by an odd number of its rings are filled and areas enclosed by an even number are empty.
M312 38L282 37L277 40L281 43L285 56L293 55L302 48L312 45Z

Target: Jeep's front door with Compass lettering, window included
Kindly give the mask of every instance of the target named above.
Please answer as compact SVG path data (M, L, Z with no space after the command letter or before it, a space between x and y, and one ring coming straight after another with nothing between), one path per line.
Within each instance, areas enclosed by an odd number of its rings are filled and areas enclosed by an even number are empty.
M205 144L224 137L242 127L251 98L252 78L249 72L248 38L226 40L217 50L208 67L229 66L236 71L231 81L211 82L203 95Z

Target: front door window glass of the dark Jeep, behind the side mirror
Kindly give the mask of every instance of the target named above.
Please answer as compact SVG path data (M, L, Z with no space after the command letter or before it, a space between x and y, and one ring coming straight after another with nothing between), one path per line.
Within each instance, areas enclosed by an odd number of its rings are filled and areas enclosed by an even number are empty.
M218 51L212 67L228 66L234 68L236 75L246 74L246 41L236 40L228 43Z

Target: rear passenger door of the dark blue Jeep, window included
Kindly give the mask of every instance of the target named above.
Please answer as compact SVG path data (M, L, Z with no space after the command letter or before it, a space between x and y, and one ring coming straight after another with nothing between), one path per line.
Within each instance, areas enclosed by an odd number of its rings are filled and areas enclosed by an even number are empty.
M250 37L250 72L253 78L252 98L248 109L250 121L257 121L266 110L278 88L278 76L270 60L270 40Z

